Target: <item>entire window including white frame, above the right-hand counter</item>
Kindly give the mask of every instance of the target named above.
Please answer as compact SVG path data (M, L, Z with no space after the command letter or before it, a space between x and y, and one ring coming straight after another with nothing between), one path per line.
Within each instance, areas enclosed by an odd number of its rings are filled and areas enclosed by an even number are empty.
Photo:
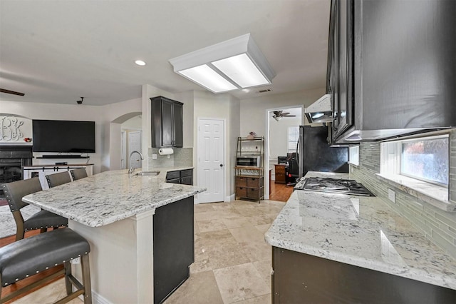
M405 176L447 187L448 147L447 135L382 143L380 173Z

